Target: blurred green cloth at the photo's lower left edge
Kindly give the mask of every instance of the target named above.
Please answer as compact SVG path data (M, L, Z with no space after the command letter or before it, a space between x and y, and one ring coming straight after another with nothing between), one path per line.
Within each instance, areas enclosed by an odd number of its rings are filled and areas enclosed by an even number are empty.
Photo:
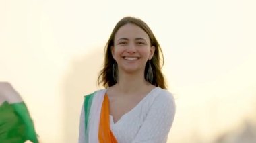
M38 143L34 124L24 102L0 106L0 142L23 143L26 140Z

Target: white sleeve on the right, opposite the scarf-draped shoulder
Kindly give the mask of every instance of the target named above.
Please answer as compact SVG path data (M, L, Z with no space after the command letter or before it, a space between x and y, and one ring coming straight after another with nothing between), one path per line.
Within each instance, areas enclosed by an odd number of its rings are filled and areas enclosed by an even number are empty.
M175 115L172 94L163 90L152 103L133 143L166 143Z

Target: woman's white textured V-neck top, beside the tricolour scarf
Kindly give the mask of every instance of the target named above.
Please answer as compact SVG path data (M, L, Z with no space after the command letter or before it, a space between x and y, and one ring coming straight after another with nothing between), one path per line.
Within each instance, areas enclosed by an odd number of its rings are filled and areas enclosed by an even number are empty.
M156 87L116 123L110 115L110 127L119 143L165 143L174 115L172 94ZM83 117L84 109L80 121L84 121ZM80 122L79 142L83 142L82 128L84 124Z

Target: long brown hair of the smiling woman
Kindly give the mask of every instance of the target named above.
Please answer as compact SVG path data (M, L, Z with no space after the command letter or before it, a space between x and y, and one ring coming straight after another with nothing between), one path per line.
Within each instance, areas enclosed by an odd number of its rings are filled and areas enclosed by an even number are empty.
M150 61L153 70L153 81L151 84L157 87L161 87L162 89L166 89L166 82L164 79L164 75L161 71L161 68L164 65L164 56L162 54L160 44L156 40L156 37L154 36L152 30L150 30L150 27L141 19L137 19L135 17L124 17L116 24L115 28L113 29L113 32L111 33L110 38L108 39L108 42L105 46L104 66L102 70L100 70L100 74L98 76L98 85L102 84L105 88L107 88L117 83L117 81L115 81L113 78L112 72L112 67L113 64L115 64L115 60L111 53L111 46L114 46L115 34L119 30L119 28L127 23L132 23L136 26L139 26L150 37L150 44L151 46L155 47L154 55ZM148 69L148 63L149 62L146 63L145 69ZM145 70L144 72L144 78L146 77L146 72L147 70Z

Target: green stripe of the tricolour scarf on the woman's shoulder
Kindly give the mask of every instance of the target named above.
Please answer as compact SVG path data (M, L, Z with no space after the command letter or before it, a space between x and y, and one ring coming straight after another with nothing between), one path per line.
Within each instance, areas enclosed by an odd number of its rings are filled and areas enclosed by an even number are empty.
M88 118L89 118L89 114L90 114L90 109L91 109L94 93L84 96L84 122L85 122L84 123L84 129L85 129L84 132L86 134L87 142L88 142Z

